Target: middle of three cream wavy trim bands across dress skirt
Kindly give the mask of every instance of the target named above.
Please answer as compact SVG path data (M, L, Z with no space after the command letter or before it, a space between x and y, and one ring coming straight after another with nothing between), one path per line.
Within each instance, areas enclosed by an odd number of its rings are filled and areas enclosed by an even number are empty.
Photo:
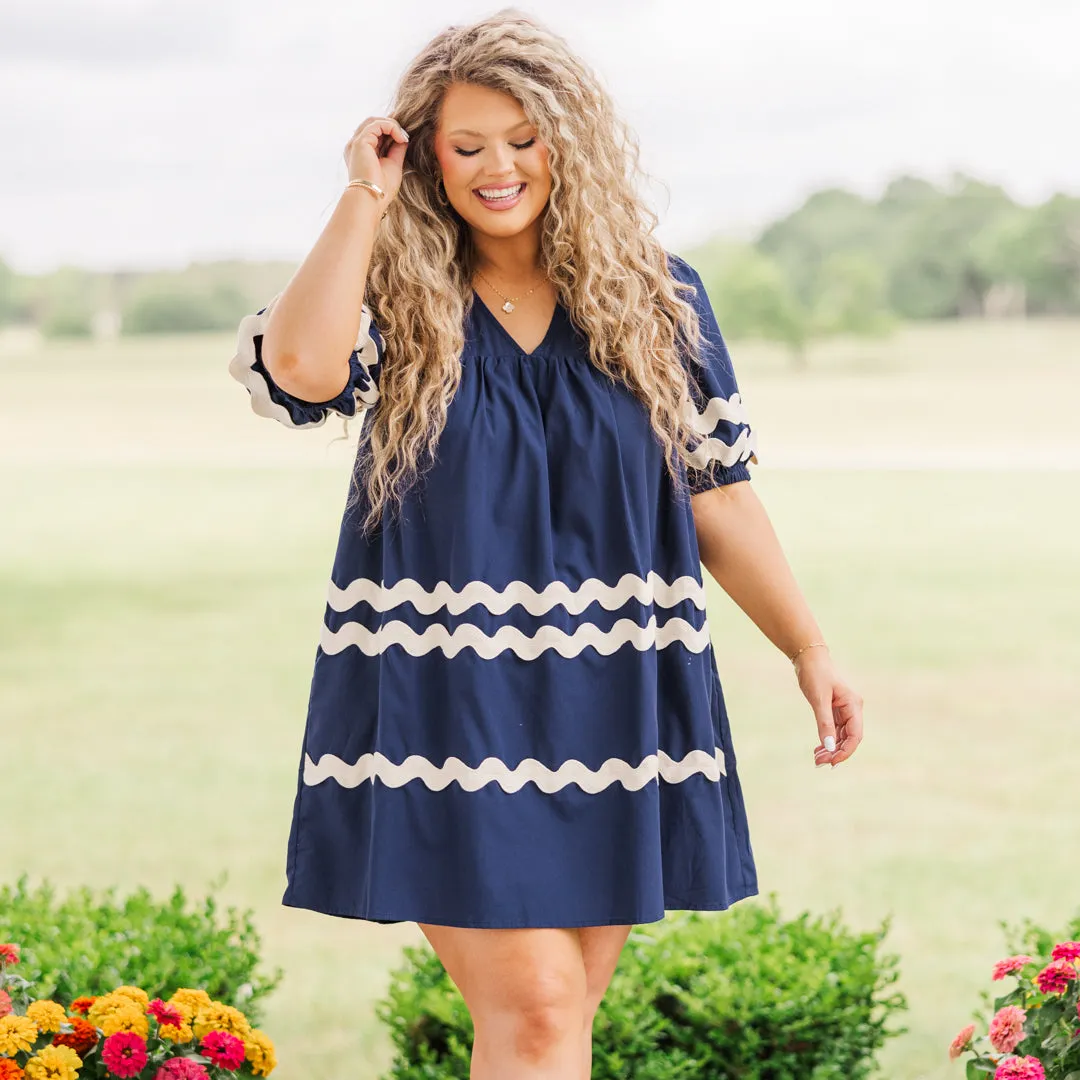
M347 622L336 631L324 624L320 635L320 645L329 656L354 645L365 656L374 657L391 645L399 645L411 657L426 656L433 649L456 657L462 649L474 649L485 660L508 649L522 660L536 660L546 649L554 649L563 657L576 657L592 647L607 657L627 644L644 651L651 646L663 649L675 642L681 642L691 652L702 652L708 645L707 622L700 630L685 619L669 619L658 626L657 617L652 616L644 626L633 619L620 619L610 630L585 622L571 634L558 626L541 626L531 637L516 626L500 626L494 634L485 634L473 623L462 623L453 631L433 625L418 633L408 623L399 621L388 622L378 630Z

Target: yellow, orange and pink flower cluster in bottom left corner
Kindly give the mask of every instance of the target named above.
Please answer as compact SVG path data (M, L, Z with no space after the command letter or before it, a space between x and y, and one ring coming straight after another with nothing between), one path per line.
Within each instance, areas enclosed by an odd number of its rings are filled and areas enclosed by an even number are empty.
M0 944L0 1080L225 1080L268 1077L273 1043L232 1005L181 988L167 1000L137 986L99 997L29 1000Z

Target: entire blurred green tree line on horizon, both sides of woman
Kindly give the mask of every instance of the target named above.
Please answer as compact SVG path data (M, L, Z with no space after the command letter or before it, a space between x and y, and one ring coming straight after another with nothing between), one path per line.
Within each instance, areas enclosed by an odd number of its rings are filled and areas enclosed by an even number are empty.
M1080 198L1024 205L967 175L902 176L876 199L816 191L755 239L716 237L686 257L726 336L781 341L798 360L814 339L885 334L901 320L1080 314ZM294 269L24 275L0 259L0 325L49 337L234 329Z

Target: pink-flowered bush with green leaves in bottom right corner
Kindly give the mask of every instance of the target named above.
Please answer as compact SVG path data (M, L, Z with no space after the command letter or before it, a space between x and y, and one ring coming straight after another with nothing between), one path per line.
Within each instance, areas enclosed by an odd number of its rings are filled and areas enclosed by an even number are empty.
M1080 942L1057 942L1050 957L1026 953L999 960L991 981L1016 980L994 1001L985 1036L969 1024L949 1057L966 1052L968 1080L1080 1080Z

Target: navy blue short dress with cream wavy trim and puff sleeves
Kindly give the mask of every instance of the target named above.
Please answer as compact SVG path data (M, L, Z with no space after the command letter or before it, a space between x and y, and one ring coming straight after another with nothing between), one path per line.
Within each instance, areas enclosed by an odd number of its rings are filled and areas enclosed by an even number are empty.
M701 278L690 490L746 481L755 437ZM685 295L685 294L684 294ZM271 301L272 303L273 301ZM364 309L350 380L300 401L229 370L291 428L378 400ZM330 573L282 903L456 927L651 922L757 893L705 619L693 513L644 406L558 305L526 354L474 297L437 460L402 518L347 512Z

